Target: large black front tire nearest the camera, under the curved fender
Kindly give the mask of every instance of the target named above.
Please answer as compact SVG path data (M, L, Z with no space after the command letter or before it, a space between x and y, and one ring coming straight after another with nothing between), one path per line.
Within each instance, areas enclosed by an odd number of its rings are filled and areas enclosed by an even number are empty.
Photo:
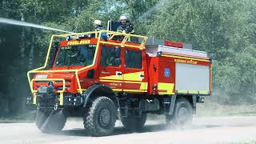
M98 97L90 106L88 114L84 117L84 127L91 136L106 136L114 131L117 118L114 102L107 97Z

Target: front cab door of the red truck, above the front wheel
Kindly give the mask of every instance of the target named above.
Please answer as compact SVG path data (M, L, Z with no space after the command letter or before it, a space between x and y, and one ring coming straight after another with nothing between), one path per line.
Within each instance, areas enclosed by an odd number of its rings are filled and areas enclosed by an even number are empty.
M114 91L122 91L123 66L121 48L117 46L102 46L99 80Z

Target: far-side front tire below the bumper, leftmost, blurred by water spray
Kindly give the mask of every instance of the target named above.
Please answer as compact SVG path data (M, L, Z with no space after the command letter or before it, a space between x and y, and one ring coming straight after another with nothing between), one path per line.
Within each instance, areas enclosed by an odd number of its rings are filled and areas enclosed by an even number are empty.
M62 110L38 109L35 117L36 126L43 133L56 133L61 131L66 124L66 114Z

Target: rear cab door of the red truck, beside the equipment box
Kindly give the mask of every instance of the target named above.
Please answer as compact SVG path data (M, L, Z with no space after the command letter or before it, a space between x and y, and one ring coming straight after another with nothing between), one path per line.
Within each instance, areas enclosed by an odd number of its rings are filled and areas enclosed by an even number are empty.
M147 91L147 74L146 54L145 51L138 49L124 50L124 84L123 91L126 92L146 92Z

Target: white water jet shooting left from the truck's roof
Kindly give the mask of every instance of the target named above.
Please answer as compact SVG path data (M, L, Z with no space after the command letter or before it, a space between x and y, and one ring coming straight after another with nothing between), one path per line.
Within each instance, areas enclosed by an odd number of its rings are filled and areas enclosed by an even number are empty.
M48 26L40 26L40 25L36 25L34 23L20 22L20 21L16 21L16 20L12 20L12 19L7 19L7 18L0 18L0 23L6 23L6 24L16 25L16 26L28 26L28 27L38 28L38 29L45 29L45 30L54 30L54 31L60 31L60 32L70 33L70 34L73 33L70 31L54 29L54 28L51 28Z

